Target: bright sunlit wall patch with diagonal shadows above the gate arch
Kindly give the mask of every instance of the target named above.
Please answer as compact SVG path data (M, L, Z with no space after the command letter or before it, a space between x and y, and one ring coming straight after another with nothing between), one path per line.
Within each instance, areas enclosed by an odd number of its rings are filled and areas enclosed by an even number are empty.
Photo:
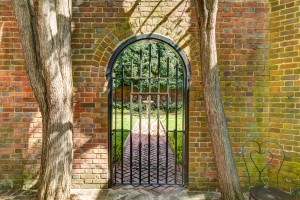
M184 36L192 23L190 4L190 1L185 0L175 6L165 1L124 1L123 8L126 13L130 13L128 20L136 34L161 33L179 43L187 41ZM166 5L170 5L169 10L162 10Z

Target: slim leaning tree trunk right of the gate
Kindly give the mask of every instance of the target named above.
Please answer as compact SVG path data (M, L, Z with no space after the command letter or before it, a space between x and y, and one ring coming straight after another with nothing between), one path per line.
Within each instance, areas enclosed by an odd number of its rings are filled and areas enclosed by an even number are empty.
M242 200L242 190L233 159L220 94L215 38L218 0L195 0L195 3L205 110L219 172L222 197L225 200Z

